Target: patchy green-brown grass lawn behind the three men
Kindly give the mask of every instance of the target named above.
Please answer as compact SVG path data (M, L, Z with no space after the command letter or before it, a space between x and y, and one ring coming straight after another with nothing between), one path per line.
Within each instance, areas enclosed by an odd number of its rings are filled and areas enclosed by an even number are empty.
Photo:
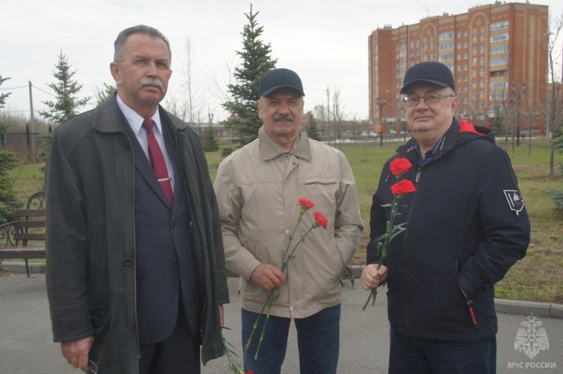
M373 141L358 142L341 146L352 166L365 230L353 264L365 264L365 246L369 240L369 207L375 192L379 174L384 162L391 157L397 146L403 142L385 143L380 147ZM499 142L502 146L504 143ZM549 152L544 141L534 141L531 155L528 155L528 143L524 141L512 153L509 143L509 155L517 174L526 209L531 221L531 243L526 257L515 264L507 276L495 287L496 296L503 299L563 304L563 211L546 195L550 188L563 189L563 178L557 163L563 162L561 155L556 155L557 179L552 181L549 175ZM220 152L208 153L210 176L215 180L217 165L221 160ZM21 200L42 190L43 165L22 165L13 170L14 188Z

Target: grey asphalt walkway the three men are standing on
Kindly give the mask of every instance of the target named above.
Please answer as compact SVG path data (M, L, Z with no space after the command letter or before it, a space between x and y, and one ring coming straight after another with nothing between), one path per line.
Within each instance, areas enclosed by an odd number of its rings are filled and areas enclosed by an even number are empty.
M34 276L31 279L25 273L0 276L0 373L82 373L72 369L61 356L59 344L51 342L45 276L42 273ZM238 278L229 278L231 304L225 307L225 325L232 330L226 330L224 335L241 355L238 283ZM347 280L342 290L339 373L386 373L386 297L380 292L375 307L362 311L367 291L358 282L355 284L356 288L351 288ZM526 316L536 307L531 303L526 309L524 304L519 307L521 314L498 314L498 373L562 373L563 318L538 318L548 335L549 350L540 351L534 359L514 350L521 322L527 321ZM226 359L212 361L203 368L203 374L227 373L226 363ZM283 373L298 372L296 333L292 330Z

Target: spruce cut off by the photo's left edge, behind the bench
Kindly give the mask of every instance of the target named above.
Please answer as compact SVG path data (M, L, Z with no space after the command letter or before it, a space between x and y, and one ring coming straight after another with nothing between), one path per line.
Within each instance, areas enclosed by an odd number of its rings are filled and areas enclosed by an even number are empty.
M10 78L2 78L0 75L0 86L8 79ZM10 96L10 92L0 94L0 108L4 108L8 96ZM10 127L11 124L0 121L0 135L6 135ZM13 182L9 175L19 162L16 153L9 150L0 150L0 224L12 221L13 209L21 206L21 202L13 190Z

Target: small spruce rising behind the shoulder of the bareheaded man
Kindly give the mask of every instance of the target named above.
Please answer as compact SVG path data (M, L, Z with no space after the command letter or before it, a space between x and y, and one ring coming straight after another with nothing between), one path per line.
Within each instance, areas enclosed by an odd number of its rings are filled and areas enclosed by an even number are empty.
M58 55L58 63L55 67L56 70L53 71L53 77L55 77L56 82L47 85L55 91L56 101L43 101L50 109L40 110L39 114L47 120L61 124L77 115L77 110L86 105L90 97L78 98L76 96L80 89L82 89L82 84L72 80L76 70L70 70L68 57L63 55L63 51Z

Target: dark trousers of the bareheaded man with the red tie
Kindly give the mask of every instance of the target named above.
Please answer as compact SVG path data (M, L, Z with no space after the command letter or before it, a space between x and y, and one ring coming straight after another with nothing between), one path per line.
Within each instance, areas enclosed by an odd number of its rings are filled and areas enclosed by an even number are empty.
M199 337L191 335L180 297L178 318L172 335L163 342L140 344L141 374L199 374Z

